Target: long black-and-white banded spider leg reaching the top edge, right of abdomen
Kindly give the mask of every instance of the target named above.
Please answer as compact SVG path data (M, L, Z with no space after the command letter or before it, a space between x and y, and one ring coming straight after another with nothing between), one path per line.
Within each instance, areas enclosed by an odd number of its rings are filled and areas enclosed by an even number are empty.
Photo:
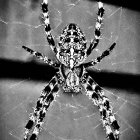
M98 13L97 13L97 20L95 24L94 39L91 40L90 46L87 49L87 56L91 54L93 49L95 49L99 43L99 39L101 37L101 25L103 24L102 20L103 20L104 11L105 10L103 8L103 3L100 0L98 0Z

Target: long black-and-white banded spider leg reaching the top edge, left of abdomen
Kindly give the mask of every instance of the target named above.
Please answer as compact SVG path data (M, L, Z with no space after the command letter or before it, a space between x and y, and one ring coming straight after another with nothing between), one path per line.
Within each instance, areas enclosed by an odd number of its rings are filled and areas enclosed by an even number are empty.
M50 26L50 19L49 19L49 11L48 11L48 0L43 0L42 2L42 14L43 14L43 20L45 23L45 33L47 41L54 53L57 53L55 41L51 34L51 26Z

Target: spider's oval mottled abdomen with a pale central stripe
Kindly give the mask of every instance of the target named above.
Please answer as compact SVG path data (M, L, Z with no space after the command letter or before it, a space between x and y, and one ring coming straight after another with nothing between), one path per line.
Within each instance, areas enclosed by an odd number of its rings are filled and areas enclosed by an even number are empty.
M73 69L86 59L86 39L81 29L70 23L60 35L57 58L62 64Z

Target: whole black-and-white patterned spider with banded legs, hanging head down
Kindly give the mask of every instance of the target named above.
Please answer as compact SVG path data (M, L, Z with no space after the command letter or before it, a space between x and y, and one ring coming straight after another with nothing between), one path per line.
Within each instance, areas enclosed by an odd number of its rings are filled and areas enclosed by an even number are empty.
M98 0L94 39L91 40L89 47L86 47L87 40L84 33L75 23L69 23L64 28L59 37L60 41L56 45L54 37L51 34L48 0L43 0L41 6L46 38L58 61L54 62L43 54L33 51L26 46L22 47L38 59L43 60L47 65L58 69L58 72L56 72L55 76L49 81L38 98L36 107L34 108L33 113L30 114L29 121L25 126L24 140L36 140L38 138L45 115L55 98L58 96L60 87L63 88L64 92L73 93L78 93L84 88L85 94L99 109L107 139L119 140L120 126L112 113L109 99L104 95L103 89L86 71L88 67L98 64L103 58L108 56L114 49L116 43L113 43L95 60L84 63L93 49L97 47L101 38L101 25L105 11L103 3Z

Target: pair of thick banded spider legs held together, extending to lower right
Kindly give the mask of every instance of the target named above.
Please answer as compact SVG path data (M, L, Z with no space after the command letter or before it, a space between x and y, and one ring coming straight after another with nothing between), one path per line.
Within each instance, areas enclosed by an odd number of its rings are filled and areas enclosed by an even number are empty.
M89 99L99 108L107 138L109 140L119 140L120 126L112 113L112 107L110 106L109 99L104 95L103 89L88 75L88 73L84 73L82 84L86 90L86 95L89 96Z

